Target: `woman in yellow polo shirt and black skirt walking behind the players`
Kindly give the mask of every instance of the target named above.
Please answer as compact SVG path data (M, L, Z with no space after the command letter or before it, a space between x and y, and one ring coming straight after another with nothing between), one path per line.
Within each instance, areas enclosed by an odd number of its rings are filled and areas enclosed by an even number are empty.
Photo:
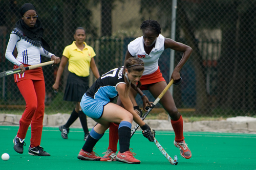
M58 91L60 77L67 62L69 61L69 76L63 100L76 102L76 106L72 111L68 122L65 125L60 126L59 130L61 131L61 137L63 139L68 139L69 127L79 117L84 131L84 140L87 140L89 135L87 117L86 114L81 111L80 101L82 95L89 88L88 76L90 75L90 68L96 79L98 79L100 76L93 58L96 54L93 48L84 42L86 39L86 31L82 27L78 27L75 30L74 39L75 41L73 41L71 45L66 46L63 51L56 80L52 87Z

